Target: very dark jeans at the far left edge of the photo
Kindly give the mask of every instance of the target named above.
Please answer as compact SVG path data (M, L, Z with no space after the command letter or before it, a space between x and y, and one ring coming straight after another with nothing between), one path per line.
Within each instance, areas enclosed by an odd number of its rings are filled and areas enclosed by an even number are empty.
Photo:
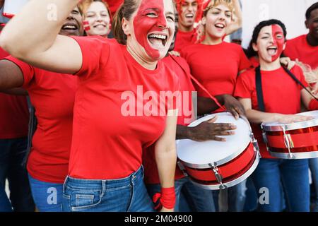
M28 173L23 167L26 147L26 138L0 139L0 208L1 206L8 207L8 197L4 194L4 184L8 179L13 210L16 212L35 210Z

